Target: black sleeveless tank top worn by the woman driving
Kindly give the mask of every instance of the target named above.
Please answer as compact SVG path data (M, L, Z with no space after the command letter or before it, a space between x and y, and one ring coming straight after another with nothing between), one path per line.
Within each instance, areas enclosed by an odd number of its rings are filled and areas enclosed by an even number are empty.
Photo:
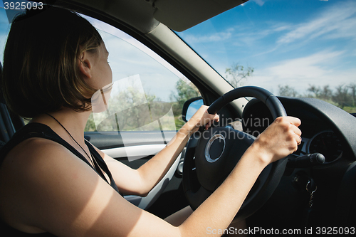
M101 172L100 168L103 169L103 171L108 175L110 179L110 186L112 186L112 189L115 189L117 193L119 193L119 190L117 189L117 186L115 184L114 179L112 178L112 175L108 169L108 166L105 164L103 158L100 156L100 154L95 150L95 148L85 140L85 144L88 146L90 150L90 154L92 155L95 164L95 167L93 167L85 157L83 157L80 152L78 152L77 149L72 147L68 142L66 142L64 139L59 137L56 132L51 130L51 127L48 127L47 125L43 125L41 123L29 123L25 127L22 127L21 130L15 133L15 135L9 140L9 142L6 142L4 144L4 147L0 149L0 165L4 161L4 158L6 157L6 154L8 154L12 148L14 148L17 144L23 142L25 139L31 138L31 137L42 137L45 139L50 139L53 142L58 142L59 144L63 145L63 147L66 147L67 149L70 150L70 152L73 152L79 159L83 160L86 164L88 164L90 167L92 167L95 172L98 173L100 177L102 177L106 182L108 180L105 178L103 172ZM99 168L100 167L100 168ZM1 195L1 192L0 192ZM11 226L7 225L4 223L4 221L0 220L0 233L1 236L53 236L51 233L39 233L39 234L31 234L31 233L24 233L21 231L16 230L15 228L12 228Z

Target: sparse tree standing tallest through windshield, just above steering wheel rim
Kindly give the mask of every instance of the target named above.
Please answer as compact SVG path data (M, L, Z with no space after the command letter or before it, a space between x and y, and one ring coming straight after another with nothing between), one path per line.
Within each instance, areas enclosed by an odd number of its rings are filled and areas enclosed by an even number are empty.
M244 85L244 80L251 76L253 73L253 68L247 67L245 68L243 65L239 65L239 63L233 63L231 68L226 68L226 80L234 87L238 88L241 85Z

